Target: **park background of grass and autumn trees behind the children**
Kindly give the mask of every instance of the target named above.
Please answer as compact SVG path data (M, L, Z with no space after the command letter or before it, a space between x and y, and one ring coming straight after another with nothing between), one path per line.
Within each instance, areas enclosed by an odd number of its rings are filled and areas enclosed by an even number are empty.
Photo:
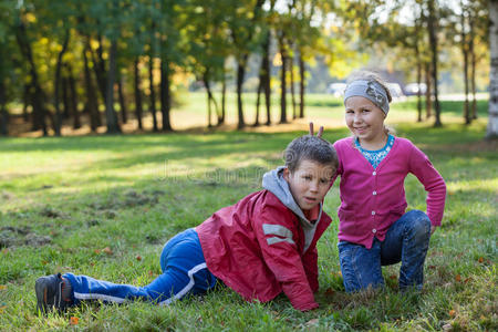
M496 2L1 1L0 330L496 330ZM387 124L448 186L422 293L396 291L397 266L344 293L335 184L317 311L221 289L37 314L43 274L152 281L163 243L258 190L309 121L349 135L332 84L360 69L394 83Z

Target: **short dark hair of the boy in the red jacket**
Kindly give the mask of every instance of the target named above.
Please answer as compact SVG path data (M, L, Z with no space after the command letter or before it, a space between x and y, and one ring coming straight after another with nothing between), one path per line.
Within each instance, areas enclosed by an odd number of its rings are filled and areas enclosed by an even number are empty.
M314 135L294 138L287 146L283 158L290 172L294 172L302 160L317 162L332 166L334 169L339 166L338 154L332 144Z

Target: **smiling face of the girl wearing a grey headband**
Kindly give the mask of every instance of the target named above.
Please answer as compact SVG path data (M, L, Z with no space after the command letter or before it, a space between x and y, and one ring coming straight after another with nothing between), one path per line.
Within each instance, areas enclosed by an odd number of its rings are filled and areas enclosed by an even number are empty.
M360 142L383 142L385 138L384 120L385 113L365 97L352 96L345 101L346 125Z

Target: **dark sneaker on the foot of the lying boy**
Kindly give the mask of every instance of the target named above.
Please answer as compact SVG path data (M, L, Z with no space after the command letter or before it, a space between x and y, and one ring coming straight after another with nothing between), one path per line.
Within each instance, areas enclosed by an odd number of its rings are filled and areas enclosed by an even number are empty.
M59 312L65 311L71 304L71 300L63 299L63 288L64 279L61 273L38 278L34 283L38 310L42 313L48 313L53 309Z

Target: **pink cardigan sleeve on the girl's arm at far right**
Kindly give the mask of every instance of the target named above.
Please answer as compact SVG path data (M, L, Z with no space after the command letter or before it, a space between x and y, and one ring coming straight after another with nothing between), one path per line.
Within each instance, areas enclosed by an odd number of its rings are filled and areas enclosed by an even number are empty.
M427 216L430 224L440 226L445 210L446 184L427 156L415 145L412 145L409 172L418 178L427 191Z

